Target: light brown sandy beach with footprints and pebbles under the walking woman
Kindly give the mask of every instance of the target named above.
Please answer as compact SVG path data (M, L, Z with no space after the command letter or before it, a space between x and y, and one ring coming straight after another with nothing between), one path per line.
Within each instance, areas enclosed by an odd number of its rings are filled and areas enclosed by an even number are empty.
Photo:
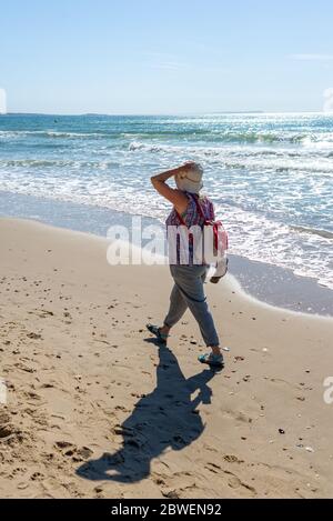
M111 267L104 239L0 220L2 498L326 498L333 319L206 285L221 373L186 313L168 348L144 324L167 267Z

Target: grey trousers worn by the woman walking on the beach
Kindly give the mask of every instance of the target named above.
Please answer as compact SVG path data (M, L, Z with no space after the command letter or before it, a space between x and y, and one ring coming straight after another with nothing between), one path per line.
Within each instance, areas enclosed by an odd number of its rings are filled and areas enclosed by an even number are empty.
M170 271L174 285L164 325L172 328L189 308L199 324L204 343L209 347L219 345L219 337L203 290L208 267L171 264Z

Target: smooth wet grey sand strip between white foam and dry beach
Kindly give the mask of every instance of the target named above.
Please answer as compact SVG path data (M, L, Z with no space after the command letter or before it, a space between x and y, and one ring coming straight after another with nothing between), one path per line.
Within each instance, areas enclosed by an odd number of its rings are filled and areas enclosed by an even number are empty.
M1 191L0 208L2 218L37 220L103 238L110 226L130 226L134 217L120 210ZM24 210L19 211L18 208ZM157 220L142 218L142 223L155 224ZM230 273L251 298L282 309L333 317L333 290L320 285L315 279L241 256L230 253L229 257Z

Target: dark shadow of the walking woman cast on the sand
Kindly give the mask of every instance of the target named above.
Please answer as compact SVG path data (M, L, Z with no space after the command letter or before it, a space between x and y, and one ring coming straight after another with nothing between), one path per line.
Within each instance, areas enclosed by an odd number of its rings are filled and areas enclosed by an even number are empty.
M149 477L151 461L165 449L182 450L202 434L205 425L196 408L211 402L208 382L215 372L205 369L185 379L174 354L159 344L157 388L141 398L122 423L122 447L113 454L103 453L100 459L83 463L78 475L123 483Z

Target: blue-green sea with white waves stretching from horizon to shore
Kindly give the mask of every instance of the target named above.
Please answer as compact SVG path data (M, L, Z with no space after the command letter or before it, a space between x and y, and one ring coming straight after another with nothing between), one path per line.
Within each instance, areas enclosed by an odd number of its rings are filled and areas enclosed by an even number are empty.
M33 201L18 216L61 201L88 229L88 208L163 221L150 177L189 160L231 253L333 289L332 113L0 116L1 201Z

